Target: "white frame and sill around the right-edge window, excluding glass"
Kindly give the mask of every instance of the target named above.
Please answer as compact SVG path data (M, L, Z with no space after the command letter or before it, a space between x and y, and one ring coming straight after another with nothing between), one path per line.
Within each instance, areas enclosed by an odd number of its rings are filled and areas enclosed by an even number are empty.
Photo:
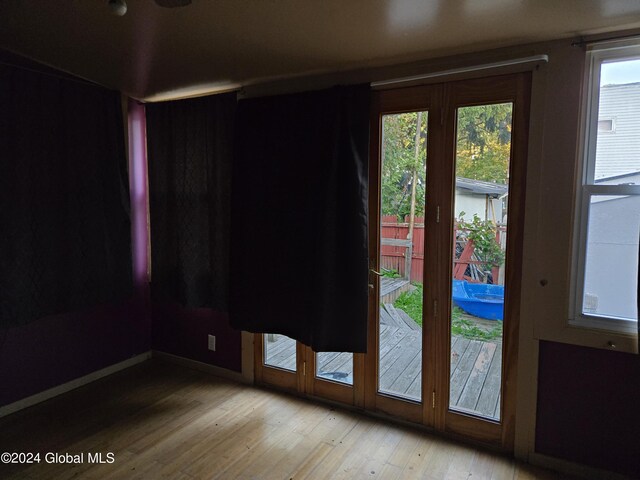
M591 47L587 53L588 68L585 72L584 114L581 121L581 148L579 149L581 175L576 185L576 224L572 256L572 282L569 318L563 336L571 343L589 344L603 348L636 351L638 326L636 321L582 313L584 275L587 248L587 229L590 199L594 195L640 195L639 185L596 185L595 158L598 135L598 110L600 93L600 66L607 60L618 61L640 56L640 45L628 43ZM612 124L613 126L613 124ZM586 330L586 331L585 331ZM581 331L584 331L582 333ZM587 332L588 331L588 332Z

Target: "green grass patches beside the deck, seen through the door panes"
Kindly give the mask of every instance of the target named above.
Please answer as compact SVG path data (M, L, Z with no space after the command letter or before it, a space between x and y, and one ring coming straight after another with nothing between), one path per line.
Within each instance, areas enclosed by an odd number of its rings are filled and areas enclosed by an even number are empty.
M414 283L415 287L410 292L403 292L394 302L393 306L401 308L418 325L422 326L422 293L421 283ZM496 326L490 330L478 327L472 320L464 315L464 312L453 307L451 312L451 334L459 335L471 340L494 340L502 337L502 322L496 322Z

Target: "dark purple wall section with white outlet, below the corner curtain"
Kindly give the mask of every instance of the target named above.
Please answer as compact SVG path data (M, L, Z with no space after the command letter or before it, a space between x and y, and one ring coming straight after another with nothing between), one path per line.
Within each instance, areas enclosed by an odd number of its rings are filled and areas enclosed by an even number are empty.
M154 350L236 372L242 370L241 335L229 326L226 314L167 304L154 305L152 317ZM208 349L209 334L216 336L215 352Z

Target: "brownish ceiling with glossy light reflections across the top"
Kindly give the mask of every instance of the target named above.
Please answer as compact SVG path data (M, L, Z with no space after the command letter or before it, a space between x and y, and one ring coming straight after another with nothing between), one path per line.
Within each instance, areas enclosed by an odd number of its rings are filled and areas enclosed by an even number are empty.
M0 47L136 98L640 27L639 0L0 0Z

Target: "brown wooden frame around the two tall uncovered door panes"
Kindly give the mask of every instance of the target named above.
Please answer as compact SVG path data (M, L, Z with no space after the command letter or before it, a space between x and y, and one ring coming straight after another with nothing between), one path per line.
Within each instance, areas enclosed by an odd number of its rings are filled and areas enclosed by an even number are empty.
M379 281L370 276L369 339L366 357L365 399L368 410L380 411L421 423L455 437L475 439L513 451L521 294L524 200L527 164L531 73L461 80L427 86L373 92L369 170L370 268L380 259L380 147L382 115L429 111L427 136L427 195L425 208L425 265L435 278L424 283L422 405L399 402L377 392ZM426 98L428 97L428 98ZM506 297L503 331L501 419L499 422L448 410L451 265L453 264L453 203L455 196L456 110L462 106L513 102L513 127L509 177ZM437 175L429 172L437 172ZM449 194L449 195L447 195ZM442 221L444 219L444 221ZM444 260L443 260L444 259ZM425 273L427 269L425 268ZM448 281L447 281L448 279ZM435 303L434 303L435 302ZM437 306L437 308L436 308ZM444 366L446 365L446 368ZM432 397L433 395L433 397ZM435 406L432 403L435 399Z

